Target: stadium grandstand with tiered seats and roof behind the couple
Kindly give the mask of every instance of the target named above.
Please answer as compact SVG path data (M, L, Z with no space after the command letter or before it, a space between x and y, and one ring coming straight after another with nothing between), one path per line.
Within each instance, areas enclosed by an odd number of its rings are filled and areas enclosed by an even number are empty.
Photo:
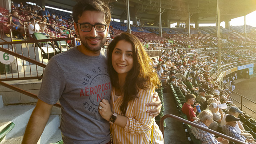
M207 0L178 0L180 4L169 0L161 0L162 10L165 9L162 11L163 19L161 22L158 20L159 9L153 4L159 4L158 0L131 0L130 13L133 24L130 24L130 22L125 22L125 20L127 21L126 4L123 1L108 1L113 8L113 20L110 23L108 42L111 42L120 33L131 30L131 33L138 37L145 47L146 44L149 44L147 52L151 58L154 57L157 61L159 56L163 56L169 77L171 77L171 72L175 72L176 77L180 79L179 84L186 84L188 82L187 78L191 77L192 85L204 89L207 94L213 94L213 85L218 85L219 89L224 90L224 96L230 96L230 100L246 114L245 116L239 116L240 121L244 129L256 139L256 109L253 108L255 100L251 99L252 97L236 93L237 91L233 91L229 86L231 84L229 80L232 77L235 77L236 82L256 77L256 27L247 25L246 31L243 25L230 26L229 28L220 27L220 36L216 33L218 27L199 27L198 23L216 22L217 4ZM253 7L255 5L253 0L249 0L247 3L244 2L244 4L236 0L233 2L229 0L219 2L221 5L219 20L225 22L256 10ZM46 8L51 15L48 22L44 23L40 19L35 21L40 26L40 30L34 30L33 33L29 33L29 24L25 24L33 23L33 21L26 20L26 15L32 16L31 12L16 9L19 13L19 20L25 25L24 33L20 36L20 31L13 28L9 20L11 8L8 8L7 5L11 5L11 2L6 3L8 4L0 4L0 51L3 52L0 52L0 57L6 59L4 62L0 59L0 111L1 116L4 117L0 120L0 131L9 126L10 122L13 122L15 127L12 131L9 131L5 138L0 137L0 142L1 138L4 138L4 143L14 144L14 142L21 143L25 125L28 123L29 116L37 102L40 80L48 61L52 56L80 45L80 39L76 35L70 13L58 11L54 8ZM16 7L19 4L19 1L14 1ZM63 0L62 4L59 4L58 0L45 2L47 6L66 10L72 10L72 6L75 4L75 0ZM32 4L23 5L34 7ZM190 5L190 11L195 12L193 15L190 13L190 16L191 21L197 23L196 28L187 27L189 25L187 21L188 12L187 10L180 11L180 9L187 9L188 5ZM224 5L230 7L227 8ZM236 9L236 12L234 9ZM54 25L52 20L56 20L52 16L53 13L55 13L55 16L62 16L63 21ZM37 15L35 14L33 13L33 16L36 18ZM118 19L120 22L114 19ZM185 23L186 26L184 28L179 26L170 28L170 24L174 22L178 22L177 25L180 25L180 22ZM131 29L129 29L128 24L130 24ZM163 25L161 30L159 24ZM45 34L40 34L38 32L42 32L41 28L46 28L48 31L43 32ZM218 39L220 39L221 44L218 44ZM108 42L104 45L104 48L107 48ZM221 48L218 48L220 45ZM8 62L9 58L13 58L13 60ZM161 64L160 61L157 64ZM196 74L201 74L203 77ZM214 79L216 79L216 83L214 83ZM187 90L198 96L198 92ZM167 86L162 86L156 91L163 105L160 115L156 117L159 126L161 126L160 119L164 114L173 114L188 120L188 117L182 112L182 105L185 103L187 92L184 93L182 88L176 87L170 81ZM231 92L232 94L229 94ZM247 99L249 100L247 101ZM244 101L246 101L246 105L243 105ZM231 104L227 103L227 105L230 106ZM61 140L59 128L60 104L55 106L40 139L40 144L55 143ZM201 110L203 109L201 107ZM224 111L228 113L228 110ZM248 115L251 117L246 117ZM180 120L166 119L162 121L162 124L166 144L200 143L200 140L192 134L191 125L186 121L182 123ZM225 134L221 130L217 132ZM1 134L2 132L0 132L0 136L2 136ZM231 141L230 143L232 144Z

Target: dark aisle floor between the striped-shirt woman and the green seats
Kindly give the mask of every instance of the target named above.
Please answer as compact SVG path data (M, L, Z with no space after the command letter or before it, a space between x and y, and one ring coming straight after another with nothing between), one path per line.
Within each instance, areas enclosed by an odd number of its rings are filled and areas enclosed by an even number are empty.
M176 104L171 96L171 90L168 87L164 95L164 115L173 114L179 116ZM180 121L172 118L165 119L166 128L164 130L164 144L189 144L188 138Z

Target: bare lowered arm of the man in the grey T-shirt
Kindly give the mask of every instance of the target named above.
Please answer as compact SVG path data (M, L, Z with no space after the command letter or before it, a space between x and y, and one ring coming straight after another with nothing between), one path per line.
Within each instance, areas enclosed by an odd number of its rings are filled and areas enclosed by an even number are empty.
M49 119L52 111L51 104L47 104L42 100L38 100L35 109L33 110L26 131L24 133L24 138L22 144L36 144L40 136L44 131L44 127Z

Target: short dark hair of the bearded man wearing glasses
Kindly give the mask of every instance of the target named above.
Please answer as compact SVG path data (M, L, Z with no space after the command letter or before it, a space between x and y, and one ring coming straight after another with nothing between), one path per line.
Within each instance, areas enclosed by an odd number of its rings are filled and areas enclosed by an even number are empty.
M82 16L84 11L97 11L103 12L105 14L104 19L107 24L111 22L111 12L103 0L80 0L73 8L73 19L77 23L80 16Z

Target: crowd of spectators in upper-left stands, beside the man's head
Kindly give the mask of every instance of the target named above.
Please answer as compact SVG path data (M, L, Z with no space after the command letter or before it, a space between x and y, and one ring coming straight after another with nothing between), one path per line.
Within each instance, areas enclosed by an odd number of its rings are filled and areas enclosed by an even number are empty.
M11 5L11 12L8 15L0 14L0 16L9 17L7 21L10 22L12 33L16 38L25 38L24 27L26 33L29 34L28 37L32 38L32 33L35 32L35 24L32 24L33 20L36 20L36 24L38 23L40 26L40 30L36 30L36 32L43 33L46 36L71 37L74 34L69 31L75 30L72 17L67 20L62 19L62 16L58 18L59 16L56 16L55 13L51 15L44 6L40 7L39 5L26 4L24 6L22 2L17 5L11 2ZM30 24L32 25L30 26ZM52 25L56 26L57 33L55 33L55 28L52 28Z

